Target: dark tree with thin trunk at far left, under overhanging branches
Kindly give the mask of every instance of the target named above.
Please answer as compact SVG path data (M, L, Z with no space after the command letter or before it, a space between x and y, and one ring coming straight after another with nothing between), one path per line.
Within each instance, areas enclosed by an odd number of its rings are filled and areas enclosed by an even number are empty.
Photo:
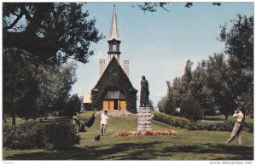
M3 50L3 117L35 117L38 82L35 65L17 48Z

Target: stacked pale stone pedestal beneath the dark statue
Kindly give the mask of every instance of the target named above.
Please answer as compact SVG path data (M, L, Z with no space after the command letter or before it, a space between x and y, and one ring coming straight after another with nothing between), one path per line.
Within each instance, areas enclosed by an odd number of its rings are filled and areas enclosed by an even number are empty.
M148 106L140 106L137 112L137 131L151 130L151 111Z

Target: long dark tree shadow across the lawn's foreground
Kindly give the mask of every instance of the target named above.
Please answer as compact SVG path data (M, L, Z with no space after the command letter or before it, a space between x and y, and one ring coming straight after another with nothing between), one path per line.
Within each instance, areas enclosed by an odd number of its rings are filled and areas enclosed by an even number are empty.
M75 148L69 151L39 151L6 156L4 160L175 160L177 153L186 154L222 154L207 158L213 160L253 160L253 147L222 144L176 145L159 148L161 142L120 143L115 145L96 145ZM225 154L232 155L227 157ZM167 158L165 158L167 157ZM202 160L195 157L197 160Z

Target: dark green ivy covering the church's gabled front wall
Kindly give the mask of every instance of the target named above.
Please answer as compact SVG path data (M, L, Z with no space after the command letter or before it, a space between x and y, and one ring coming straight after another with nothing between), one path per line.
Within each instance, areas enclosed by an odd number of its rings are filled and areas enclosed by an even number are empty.
M127 77L125 71L115 58L109 62L104 74L91 90L91 100L94 109L97 111L102 110L102 100L108 89L112 88L118 88L120 92L125 95L126 110L136 113L137 89L133 88L129 77Z

